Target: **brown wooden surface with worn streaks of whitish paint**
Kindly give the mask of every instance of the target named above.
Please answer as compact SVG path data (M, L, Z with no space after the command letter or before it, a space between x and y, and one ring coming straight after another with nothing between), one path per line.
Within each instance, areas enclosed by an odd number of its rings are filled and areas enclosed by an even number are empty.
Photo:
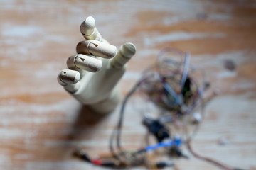
M105 117L88 113L56 81L82 40L87 16L113 45L137 45L120 82L123 94L163 47L191 52L193 65L221 91L207 106L193 147L256 169L256 2L231 0L0 1L0 169L100 169L72 152L77 145L92 155L107 152L119 108ZM136 148L145 130L129 108L123 141ZM218 145L220 139L228 145ZM193 157L176 165L217 169Z

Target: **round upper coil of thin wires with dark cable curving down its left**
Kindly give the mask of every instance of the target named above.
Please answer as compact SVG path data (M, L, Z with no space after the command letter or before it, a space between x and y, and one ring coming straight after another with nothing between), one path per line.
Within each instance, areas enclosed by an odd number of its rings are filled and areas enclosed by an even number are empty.
M170 58L164 60L163 56L166 52L176 52L181 59L182 57L185 59L183 62L176 62ZM173 48L166 48L162 50L157 57L155 67L147 69L142 78L137 81L131 91L129 91L127 96L124 98L117 127L114 129L110 137L110 151L114 157L119 160L119 162L126 161L125 149L123 149L121 145L124 110L127 106L127 101L137 89L143 91L146 96L148 96L148 99L155 103L156 106L169 111L172 117L188 114L188 110L193 110L193 108L197 106L198 101L201 100L202 93L199 93L200 90L198 89L198 84L193 82L191 78L188 78L189 60L189 53L186 53L184 56L183 52ZM164 66L161 64L162 62L165 62ZM166 63L171 63L175 68L170 68L170 65L166 67ZM183 70L181 72L182 66ZM189 93L186 94L183 87L185 84L188 84L188 81L190 83L189 86L193 86L193 88L191 88ZM173 89L173 86L176 87L175 90ZM181 96L181 94L183 94L184 97ZM183 98L185 100L183 100ZM189 109L188 106L190 106ZM114 139L116 140L117 151L114 150Z

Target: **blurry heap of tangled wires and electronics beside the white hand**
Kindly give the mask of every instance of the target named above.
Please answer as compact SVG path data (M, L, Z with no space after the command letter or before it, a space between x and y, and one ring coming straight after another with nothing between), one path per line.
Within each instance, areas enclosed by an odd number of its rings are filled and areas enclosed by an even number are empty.
M167 154L168 157L188 159L181 149L184 145L198 159L210 162L220 169L235 170L236 168L197 154L191 147L191 140L203 120L203 108L215 96L215 92L208 97L204 96L209 83L203 72L190 66L189 61L188 52L184 53L174 48L161 50L156 64L144 71L141 79L124 98L117 126L110 137L110 154L95 159L89 157L83 149L78 149L75 154L97 166L111 168L146 166L148 169L161 169L175 164L166 159L155 161L149 158L148 154L161 148L164 149L163 154ZM143 113L142 120L142 124L156 142L149 144L149 141L146 141L148 145L131 151L122 146L121 133L125 108L129 99L136 93L142 94L140 97L144 98L145 106L147 103L153 103L157 108L154 110L157 113Z

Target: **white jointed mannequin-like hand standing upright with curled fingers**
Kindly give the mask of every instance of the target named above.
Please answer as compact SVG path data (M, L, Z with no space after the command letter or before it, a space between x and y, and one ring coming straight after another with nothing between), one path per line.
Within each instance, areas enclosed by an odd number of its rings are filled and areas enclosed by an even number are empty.
M82 22L80 32L85 41L78 43L78 54L68 58L68 69L58 74L58 82L97 113L110 113L120 101L117 82L134 56L135 46L125 43L117 50L102 38L91 16Z

